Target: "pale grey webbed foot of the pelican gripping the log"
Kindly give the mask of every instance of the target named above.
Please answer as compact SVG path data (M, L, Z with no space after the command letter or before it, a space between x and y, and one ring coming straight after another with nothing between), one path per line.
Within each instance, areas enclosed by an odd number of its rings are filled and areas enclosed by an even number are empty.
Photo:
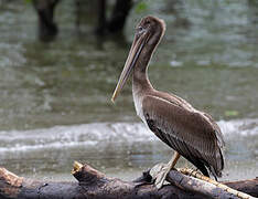
M163 164L163 163L155 165L150 170L150 175L154 180L154 185L158 189L160 189L164 185L165 178L170 170L171 170L171 164Z

